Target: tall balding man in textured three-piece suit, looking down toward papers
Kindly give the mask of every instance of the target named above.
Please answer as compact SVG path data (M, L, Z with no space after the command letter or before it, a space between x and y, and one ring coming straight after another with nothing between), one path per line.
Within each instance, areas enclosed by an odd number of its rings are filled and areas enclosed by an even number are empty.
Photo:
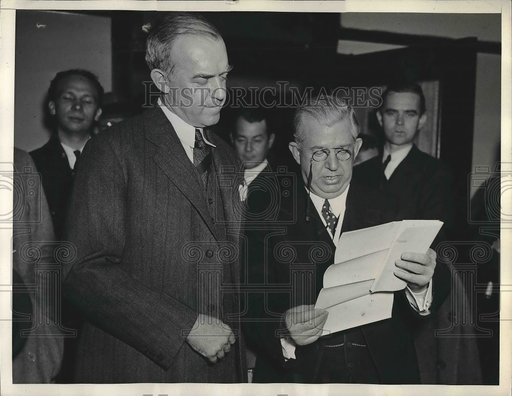
M169 13L146 62L158 106L89 141L71 197L63 293L88 318L75 381L243 382L238 186L219 182L239 162L206 129L226 99L224 41Z

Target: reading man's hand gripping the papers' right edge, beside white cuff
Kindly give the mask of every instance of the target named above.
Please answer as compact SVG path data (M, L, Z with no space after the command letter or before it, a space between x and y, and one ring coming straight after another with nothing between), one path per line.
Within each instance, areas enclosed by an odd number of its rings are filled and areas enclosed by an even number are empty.
M395 261L396 277L407 282L413 291L424 289L434 275L436 268L436 252L429 249L425 254L403 253Z

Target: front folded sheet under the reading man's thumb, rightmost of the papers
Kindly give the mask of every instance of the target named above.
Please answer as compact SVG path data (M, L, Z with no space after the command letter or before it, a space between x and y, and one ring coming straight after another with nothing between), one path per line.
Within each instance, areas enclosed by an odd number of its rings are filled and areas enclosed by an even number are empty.
M401 223L395 243L376 274L370 289L372 292L404 289L406 282L393 274L396 268L395 261L405 252L426 253L443 225L437 220L404 220Z

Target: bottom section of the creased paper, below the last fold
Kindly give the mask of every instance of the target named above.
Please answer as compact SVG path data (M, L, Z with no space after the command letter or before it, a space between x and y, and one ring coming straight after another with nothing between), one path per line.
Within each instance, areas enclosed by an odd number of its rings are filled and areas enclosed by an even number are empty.
M391 318L393 293L380 292L328 307L322 336ZM382 340L386 342L386 340Z

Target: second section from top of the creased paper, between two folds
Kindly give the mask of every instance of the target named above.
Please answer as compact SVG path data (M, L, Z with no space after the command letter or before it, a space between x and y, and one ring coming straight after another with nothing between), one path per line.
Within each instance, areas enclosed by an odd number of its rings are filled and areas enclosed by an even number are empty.
M375 279L387 255L388 249L331 265L324 273L324 288Z

